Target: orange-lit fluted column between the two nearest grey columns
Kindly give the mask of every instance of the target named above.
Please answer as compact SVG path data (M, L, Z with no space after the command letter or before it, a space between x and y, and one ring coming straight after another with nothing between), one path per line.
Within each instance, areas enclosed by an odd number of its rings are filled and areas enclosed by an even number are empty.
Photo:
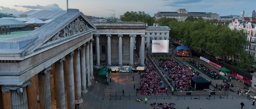
M38 75L30 78L32 81L31 87L27 87L28 109L37 109L37 89L38 89Z

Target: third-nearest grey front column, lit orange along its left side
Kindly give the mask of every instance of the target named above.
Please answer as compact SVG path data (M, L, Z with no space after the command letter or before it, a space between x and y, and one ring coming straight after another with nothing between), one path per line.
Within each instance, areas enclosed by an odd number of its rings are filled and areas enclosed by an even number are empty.
M54 76L54 96L56 96L56 108L58 109L66 109L65 102L65 85L64 85L64 67L63 62L65 58L60 59L55 62L55 72Z

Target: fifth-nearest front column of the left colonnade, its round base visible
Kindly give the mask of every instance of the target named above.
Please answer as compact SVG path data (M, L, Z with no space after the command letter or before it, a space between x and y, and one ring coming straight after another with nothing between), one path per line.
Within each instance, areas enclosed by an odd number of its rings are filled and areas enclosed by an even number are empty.
M82 103L82 90L81 90L81 69L80 69L80 47L75 50L74 56L74 81L75 81L75 102Z

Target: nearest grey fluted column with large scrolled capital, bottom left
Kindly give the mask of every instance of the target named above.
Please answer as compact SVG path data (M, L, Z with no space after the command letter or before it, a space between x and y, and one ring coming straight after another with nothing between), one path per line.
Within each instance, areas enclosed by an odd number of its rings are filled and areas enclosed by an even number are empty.
M24 82L21 86L4 86L3 93L11 91L11 108L12 109L28 109L27 86L31 86L31 80Z

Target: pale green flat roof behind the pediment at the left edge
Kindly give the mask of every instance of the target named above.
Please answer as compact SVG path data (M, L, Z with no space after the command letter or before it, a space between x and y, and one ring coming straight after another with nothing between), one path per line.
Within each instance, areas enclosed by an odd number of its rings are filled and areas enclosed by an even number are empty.
M15 31L15 32L11 32L11 34L0 34L0 39L21 37L21 36L24 36L25 34L30 33L31 31Z

